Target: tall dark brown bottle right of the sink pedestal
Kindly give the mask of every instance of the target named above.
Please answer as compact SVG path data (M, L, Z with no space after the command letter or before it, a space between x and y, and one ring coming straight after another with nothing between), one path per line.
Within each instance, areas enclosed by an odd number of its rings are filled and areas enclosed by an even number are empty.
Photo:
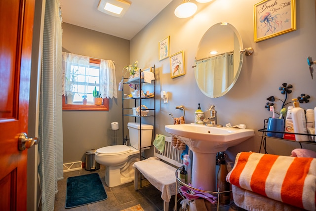
M228 174L228 170L226 167L226 161L224 157L220 159L220 166L217 173L217 191L230 191L231 185L229 182L226 181L226 176ZM219 194L219 203L220 205L229 205L231 201L231 194L228 193L221 193Z

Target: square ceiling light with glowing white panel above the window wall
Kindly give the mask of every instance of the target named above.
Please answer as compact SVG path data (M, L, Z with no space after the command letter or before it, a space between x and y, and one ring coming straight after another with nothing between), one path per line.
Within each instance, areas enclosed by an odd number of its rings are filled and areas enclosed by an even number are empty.
M108 15L122 17L130 6L125 0L100 0L98 10Z

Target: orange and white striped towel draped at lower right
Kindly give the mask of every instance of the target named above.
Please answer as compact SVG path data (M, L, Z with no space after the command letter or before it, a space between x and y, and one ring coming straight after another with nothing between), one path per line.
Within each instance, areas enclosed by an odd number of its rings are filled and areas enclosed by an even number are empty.
M226 180L309 211L316 210L316 159L241 152Z

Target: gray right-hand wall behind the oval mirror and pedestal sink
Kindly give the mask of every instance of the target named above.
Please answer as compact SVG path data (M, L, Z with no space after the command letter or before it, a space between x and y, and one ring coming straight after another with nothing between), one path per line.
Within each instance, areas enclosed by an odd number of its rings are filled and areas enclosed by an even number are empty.
M158 70L157 93L165 90L169 94L169 102L164 104L157 98L158 115L156 133L170 135L164 126L172 124L169 116L180 116L180 110L175 106L184 105L185 120L194 122L194 112L197 103L206 111L211 105L216 106L219 124L245 124L255 130L255 137L229 148L230 160L235 159L241 151L259 151L263 121L272 117L264 106L266 98L276 96L284 99L278 87L283 83L292 84L293 92L289 99L305 93L311 96L310 103L301 107L308 109L316 106L316 82L312 80L306 62L308 56L316 58L316 16L314 0L297 0L296 17L297 30L277 36L262 42L253 41L253 5L258 0L213 0L210 3L197 3L197 14L191 18L179 19L174 15L174 9L180 1L173 0L156 16L140 33L130 41L130 63L137 60L140 67L156 64ZM208 98L198 89L194 79L194 64L197 47L203 34L212 25L219 22L231 23L243 40L244 47L253 47L252 56L244 56L240 76L235 86L224 96ZM170 78L169 59L158 60L158 42L170 36L170 55L184 50L186 75ZM315 60L314 58L314 60ZM316 68L316 67L315 67ZM281 102L276 101L279 111ZM205 112L205 117L210 114ZM299 148L298 143L290 143L269 139L267 150L270 154L290 155L292 149ZM314 149L315 145L304 145L304 148Z

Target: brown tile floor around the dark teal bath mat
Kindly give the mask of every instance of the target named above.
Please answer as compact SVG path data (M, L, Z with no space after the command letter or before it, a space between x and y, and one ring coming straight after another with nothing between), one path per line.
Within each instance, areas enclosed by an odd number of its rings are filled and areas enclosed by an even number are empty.
M101 202L80 206L72 209L65 209L67 178L89 173L99 173L108 198ZM121 211L140 204L144 211L163 211L161 193L148 181L142 181L142 188L134 190L134 182L109 188L105 184L105 167L100 166L99 170L87 171L85 169L64 173L64 179L58 181L58 193L55 195L54 211ZM174 196L169 203L169 211L173 210Z

